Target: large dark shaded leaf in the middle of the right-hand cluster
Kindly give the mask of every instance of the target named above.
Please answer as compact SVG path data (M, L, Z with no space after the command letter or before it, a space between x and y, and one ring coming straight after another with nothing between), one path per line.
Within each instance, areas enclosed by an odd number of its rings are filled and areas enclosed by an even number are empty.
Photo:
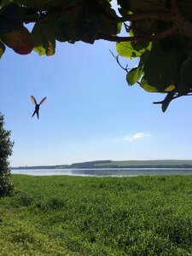
M154 44L143 66L148 84L156 87L158 91L165 91L168 86L174 84L173 79L182 59L183 52L165 53L158 43Z

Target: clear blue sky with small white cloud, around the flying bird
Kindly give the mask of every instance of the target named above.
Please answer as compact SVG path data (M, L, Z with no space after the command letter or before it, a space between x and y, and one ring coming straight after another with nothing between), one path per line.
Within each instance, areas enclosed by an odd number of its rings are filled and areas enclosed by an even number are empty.
M0 60L0 111L15 142L11 166L61 165L88 160L192 159L190 97L162 113L164 95L128 86L109 49L115 44L56 45L54 56L17 55ZM122 63L131 64L130 60ZM30 96L40 102L32 117Z

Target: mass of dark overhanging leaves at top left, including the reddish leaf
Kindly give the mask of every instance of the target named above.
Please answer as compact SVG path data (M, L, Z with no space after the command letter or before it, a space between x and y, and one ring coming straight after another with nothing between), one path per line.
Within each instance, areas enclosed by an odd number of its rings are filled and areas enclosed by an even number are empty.
M4 0L0 3L1 55L5 45L26 55L54 55L55 42L83 41L93 44L99 33L117 34L119 22L108 0L31 1ZM34 22L32 32L27 23Z

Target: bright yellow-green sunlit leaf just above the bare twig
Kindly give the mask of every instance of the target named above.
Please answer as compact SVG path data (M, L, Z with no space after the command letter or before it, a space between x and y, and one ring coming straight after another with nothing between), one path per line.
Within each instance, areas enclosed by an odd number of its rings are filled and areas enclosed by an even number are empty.
M116 50L119 55L127 58L139 57L143 54L144 49L133 49L132 42L121 42L116 44Z

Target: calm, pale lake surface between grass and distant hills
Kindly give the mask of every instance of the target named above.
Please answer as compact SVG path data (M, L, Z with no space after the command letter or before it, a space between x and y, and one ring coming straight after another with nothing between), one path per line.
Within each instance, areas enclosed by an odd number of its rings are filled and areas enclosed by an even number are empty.
M146 175L191 175L192 168L12 169L11 173L32 176L134 177Z

